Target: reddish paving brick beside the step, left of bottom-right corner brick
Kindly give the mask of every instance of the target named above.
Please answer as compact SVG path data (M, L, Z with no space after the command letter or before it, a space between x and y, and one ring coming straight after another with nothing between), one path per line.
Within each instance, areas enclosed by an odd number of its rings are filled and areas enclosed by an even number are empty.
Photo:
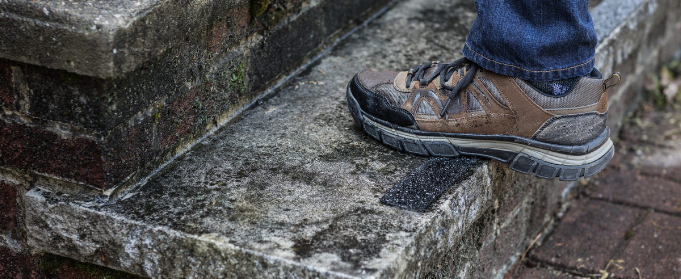
M599 274L641 212L603 201L575 201L532 257L557 267Z

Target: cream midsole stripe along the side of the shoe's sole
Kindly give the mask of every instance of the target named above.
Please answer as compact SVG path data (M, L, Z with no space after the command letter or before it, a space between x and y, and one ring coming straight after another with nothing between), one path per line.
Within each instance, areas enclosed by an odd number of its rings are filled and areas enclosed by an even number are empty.
M513 142L498 142L484 139L458 139L455 137L428 137L422 135L413 135L410 133L397 131L396 129L392 129L390 127L385 127L366 117L364 118L364 120L371 123L371 125L381 129L384 133L389 133L398 137L411 139L417 142L447 142L455 146L469 148L487 148L494 150L518 152L555 165L579 166L593 163L600 159L601 157L603 157L605 154L607 154L607 152L613 146L612 140L607 139L607 142L603 144L603 146L589 154L569 155L541 148L536 148L532 146L526 146L524 144L516 144Z

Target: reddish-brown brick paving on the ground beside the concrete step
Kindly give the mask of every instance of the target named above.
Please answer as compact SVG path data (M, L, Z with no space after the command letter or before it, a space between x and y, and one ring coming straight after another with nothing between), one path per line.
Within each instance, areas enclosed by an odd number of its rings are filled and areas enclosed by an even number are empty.
M513 278L681 278L681 110L644 105Z

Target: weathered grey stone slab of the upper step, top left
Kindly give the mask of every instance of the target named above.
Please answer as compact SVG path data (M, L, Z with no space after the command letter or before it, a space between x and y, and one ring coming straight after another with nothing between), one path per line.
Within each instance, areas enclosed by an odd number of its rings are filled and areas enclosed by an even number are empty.
M343 4L322 0L5 0L0 3L0 58L82 76L117 78L166 50L189 46L219 52L253 35L254 29L272 29L281 20L290 20L288 16L306 11L317 14L306 16L308 23L319 27L308 28L313 38L307 39L316 47L367 7L358 5L359 1ZM275 12L266 14L270 8ZM263 15L264 20L251 21ZM289 30L297 31L296 27Z

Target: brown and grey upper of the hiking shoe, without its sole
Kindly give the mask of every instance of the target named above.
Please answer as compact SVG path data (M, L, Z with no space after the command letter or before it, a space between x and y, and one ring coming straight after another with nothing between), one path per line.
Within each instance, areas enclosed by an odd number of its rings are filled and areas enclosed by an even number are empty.
M429 63L399 73L365 70L350 88L366 114L420 131L515 135L571 145L606 129L607 91L597 70L560 97L469 61Z

